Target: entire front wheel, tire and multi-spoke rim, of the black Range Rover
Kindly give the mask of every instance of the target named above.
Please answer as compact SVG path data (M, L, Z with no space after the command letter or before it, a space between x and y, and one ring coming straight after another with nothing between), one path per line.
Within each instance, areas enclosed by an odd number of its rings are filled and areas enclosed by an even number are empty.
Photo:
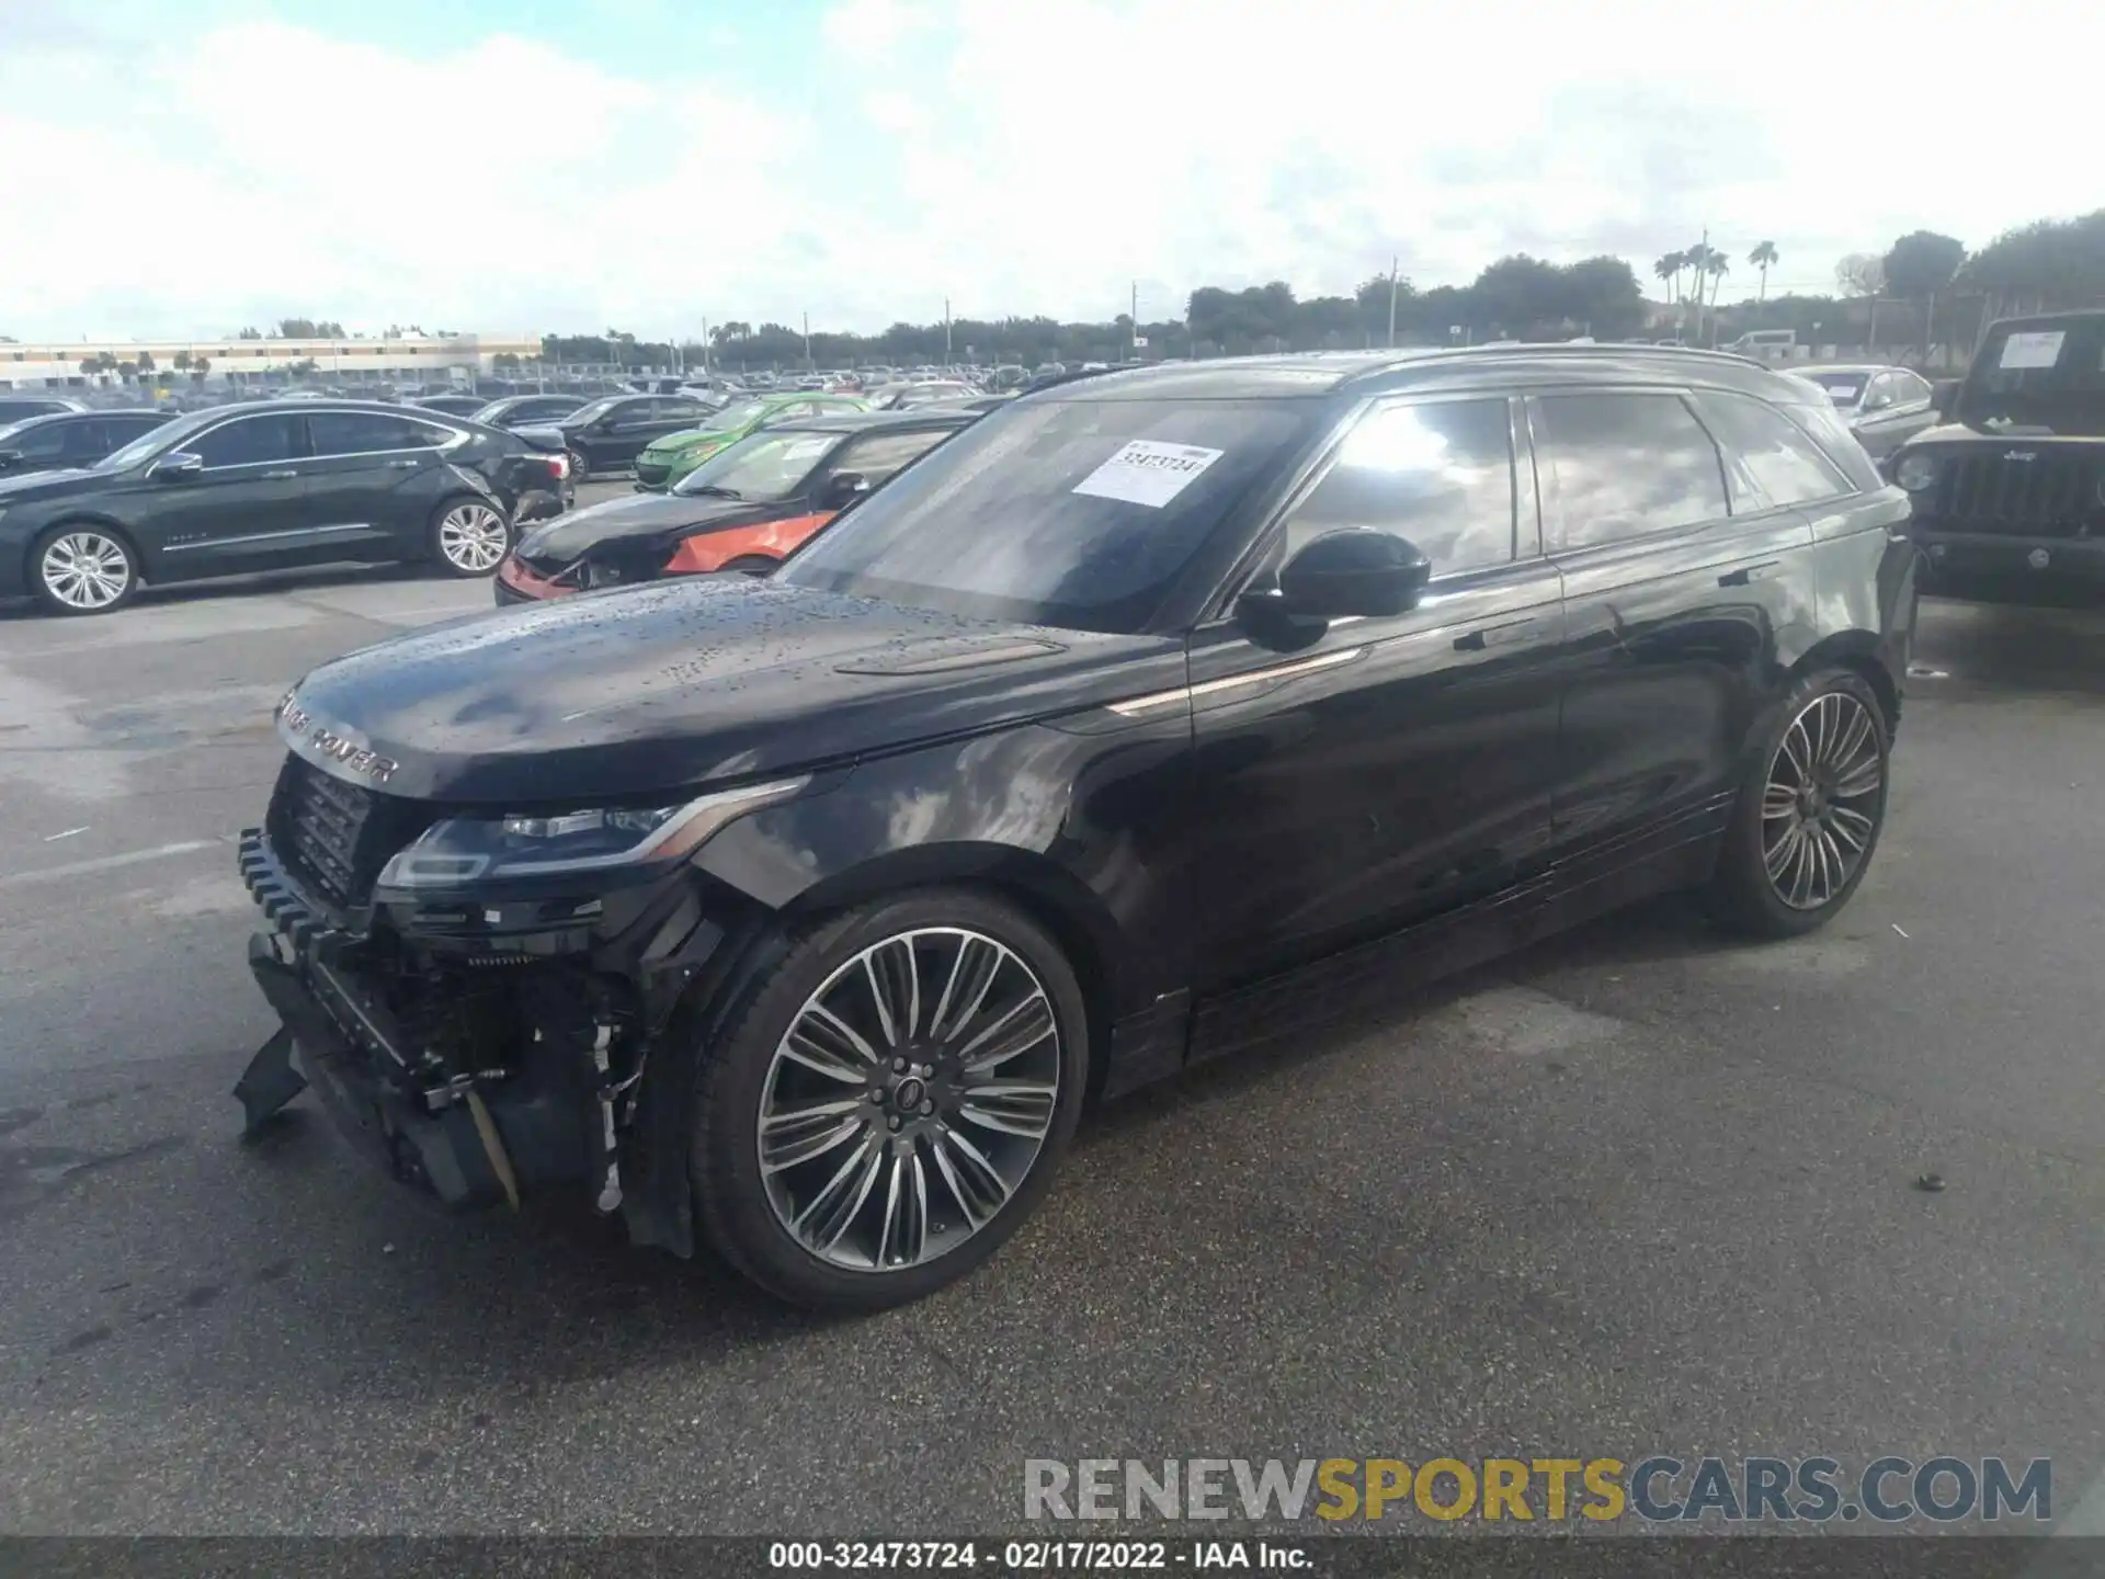
M798 943L707 1055L705 1232L804 1305L941 1288L1048 1187L1086 1034L1059 947L1006 905L924 893L850 912Z

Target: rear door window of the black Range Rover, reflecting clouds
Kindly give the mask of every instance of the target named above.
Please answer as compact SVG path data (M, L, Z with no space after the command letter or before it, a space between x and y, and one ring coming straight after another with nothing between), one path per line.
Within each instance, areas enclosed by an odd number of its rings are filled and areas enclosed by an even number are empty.
M1678 394L1549 394L1532 404L1537 465L1558 503L1545 522L1551 552L1728 514L1724 459Z

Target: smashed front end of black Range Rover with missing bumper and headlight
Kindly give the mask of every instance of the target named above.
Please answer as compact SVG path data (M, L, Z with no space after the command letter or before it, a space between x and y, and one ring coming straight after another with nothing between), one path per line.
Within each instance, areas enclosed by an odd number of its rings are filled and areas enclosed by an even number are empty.
M312 1084L360 1150L450 1208L581 1190L634 1242L690 1255L697 1040L674 1023L766 918L686 857L800 787L461 817L295 752L240 838L269 920L248 966L282 1019L236 1086L248 1128Z

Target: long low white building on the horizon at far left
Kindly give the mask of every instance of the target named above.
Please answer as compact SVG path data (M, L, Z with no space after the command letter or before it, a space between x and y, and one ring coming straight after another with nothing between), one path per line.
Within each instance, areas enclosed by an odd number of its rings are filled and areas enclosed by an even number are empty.
M493 373L499 356L530 362L541 356L539 335L419 335L381 339L187 339L187 341L0 341L0 389L91 389L120 383L183 383L202 362L206 379L261 379L314 364L314 377L333 383L415 379L450 381ZM139 368L84 373L82 362L109 358Z

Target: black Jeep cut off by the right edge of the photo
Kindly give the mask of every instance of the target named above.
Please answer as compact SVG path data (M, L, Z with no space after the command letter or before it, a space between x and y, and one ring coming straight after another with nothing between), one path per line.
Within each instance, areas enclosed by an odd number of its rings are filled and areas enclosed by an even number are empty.
M1945 421L1886 461L1924 587L2105 589L2105 312L1991 324L1937 404Z

